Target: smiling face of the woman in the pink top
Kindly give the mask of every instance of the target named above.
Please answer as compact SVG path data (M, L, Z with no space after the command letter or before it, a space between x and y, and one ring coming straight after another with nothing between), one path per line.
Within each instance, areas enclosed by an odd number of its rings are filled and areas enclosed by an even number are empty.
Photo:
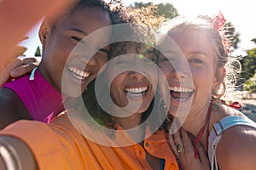
M107 11L88 6L76 8L73 13L58 20L55 26L49 26L44 22L39 31L40 39L44 40L44 49L43 60L38 70L60 92L64 76L68 86L62 94L69 97L79 96L80 93L75 93L78 90L73 89L79 88L79 92L84 91L88 83L96 77L102 65L108 60L108 47L100 49L92 58L86 54L86 50L79 54L74 53L70 57L69 55L84 37L109 25L111 20ZM108 42L110 35L111 32L97 37L96 40Z

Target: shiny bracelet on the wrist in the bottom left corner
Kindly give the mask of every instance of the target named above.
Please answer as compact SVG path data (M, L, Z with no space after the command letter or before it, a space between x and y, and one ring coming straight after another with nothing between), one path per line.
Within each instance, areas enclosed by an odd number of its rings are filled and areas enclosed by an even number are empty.
M0 156L3 157L7 169L21 170L22 165L20 156L18 156L15 148L8 144L4 139L0 138Z

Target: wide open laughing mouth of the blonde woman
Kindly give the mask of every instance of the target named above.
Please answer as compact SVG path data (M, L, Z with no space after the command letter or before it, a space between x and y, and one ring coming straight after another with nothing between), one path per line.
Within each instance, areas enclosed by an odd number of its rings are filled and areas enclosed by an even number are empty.
M194 94L193 88L182 88L173 86L169 87L169 90L172 98L176 99L177 101L186 101Z

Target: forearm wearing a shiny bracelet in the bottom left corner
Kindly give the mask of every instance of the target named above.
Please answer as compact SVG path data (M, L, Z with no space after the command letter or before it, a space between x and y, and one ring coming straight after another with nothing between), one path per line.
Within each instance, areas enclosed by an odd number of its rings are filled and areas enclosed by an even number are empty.
M32 151L20 139L0 136L0 169L38 169Z

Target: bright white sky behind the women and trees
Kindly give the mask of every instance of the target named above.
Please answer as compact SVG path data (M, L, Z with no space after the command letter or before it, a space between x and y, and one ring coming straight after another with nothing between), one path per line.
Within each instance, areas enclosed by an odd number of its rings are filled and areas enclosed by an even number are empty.
M256 38L256 2L253 0L123 0L125 5L134 2L148 3L172 3L181 15L208 14L210 16L221 11L227 21L231 22L240 33L241 42L236 54L245 55L247 49L254 48L256 45L250 40ZM40 44L38 38L38 25L28 33L29 40L21 44L26 46L26 56L33 56L36 48Z

